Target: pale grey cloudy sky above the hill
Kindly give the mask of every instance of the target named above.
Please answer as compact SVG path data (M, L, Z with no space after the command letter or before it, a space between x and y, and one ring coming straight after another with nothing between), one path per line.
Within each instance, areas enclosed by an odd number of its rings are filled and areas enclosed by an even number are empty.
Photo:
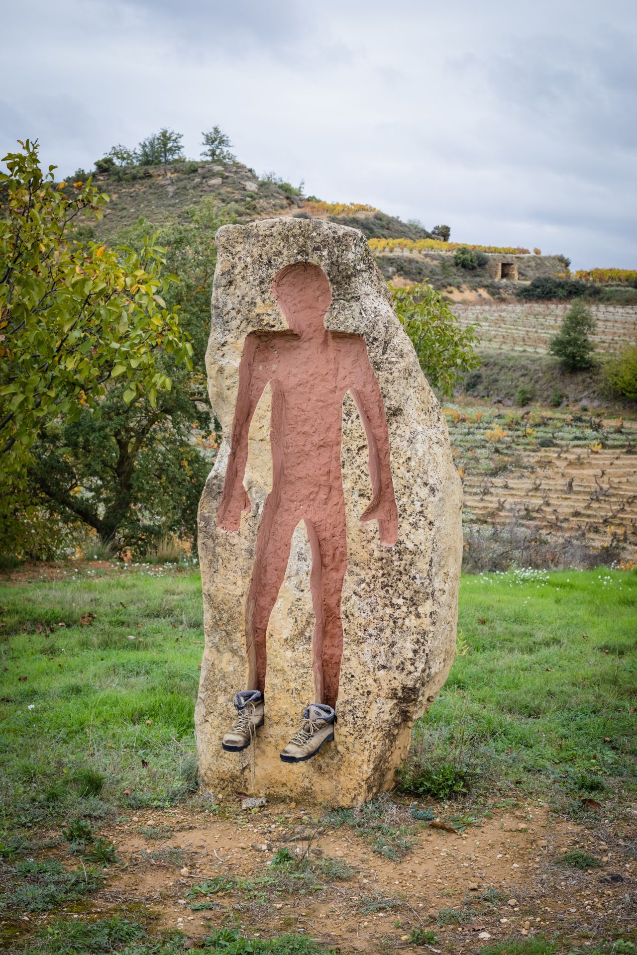
M20 0L0 147L71 174L218 123L258 173L470 243L637 267L635 0Z

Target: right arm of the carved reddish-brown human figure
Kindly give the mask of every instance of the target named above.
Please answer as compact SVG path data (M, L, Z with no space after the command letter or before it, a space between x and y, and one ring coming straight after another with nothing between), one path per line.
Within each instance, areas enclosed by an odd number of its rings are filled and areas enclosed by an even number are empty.
M380 540L386 544L393 544L398 537L398 510L393 495L387 417L367 348L364 342L361 345L351 393L365 427L370 449L369 467L373 498L360 520L377 520Z

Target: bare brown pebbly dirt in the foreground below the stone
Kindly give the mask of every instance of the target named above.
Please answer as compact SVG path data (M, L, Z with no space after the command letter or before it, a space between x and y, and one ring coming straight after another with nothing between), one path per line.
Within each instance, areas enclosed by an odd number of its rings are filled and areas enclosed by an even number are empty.
M85 914L123 906L143 912L152 931L180 928L192 940L240 922L250 936L296 931L356 952L377 952L384 941L415 952L409 938L420 927L433 929L441 947L464 950L539 933L585 944L630 929L636 863L626 841L531 802L491 814L463 834L419 823L413 850L398 861L375 854L350 827L328 826L309 849L315 879L297 889L271 863L282 847L307 848L316 827L302 811L138 811L104 829L120 864ZM561 863L574 849L594 859L590 868ZM330 859L347 863L349 877L331 880ZM212 888L193 899L205 881Z

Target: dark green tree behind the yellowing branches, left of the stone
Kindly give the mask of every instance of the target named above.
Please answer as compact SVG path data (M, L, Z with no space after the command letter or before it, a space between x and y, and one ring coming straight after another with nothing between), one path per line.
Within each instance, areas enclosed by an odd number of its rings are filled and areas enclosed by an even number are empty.
M88 415L47 428L34 449L32 497L65 524L83 521L103 540L143 553L165 534L194 539L197 506L216 449L206 393L204 356L209 333L215 232L227 222L212 201L188 212L186 223L159 233L167 265L180 276L166 299L180 309L192 343L193 368L174 368L165 356L170 393L156 407L145 397L126 405L121 388L103 399L96 423ZM138 247L151 229L143 220L120 239Z

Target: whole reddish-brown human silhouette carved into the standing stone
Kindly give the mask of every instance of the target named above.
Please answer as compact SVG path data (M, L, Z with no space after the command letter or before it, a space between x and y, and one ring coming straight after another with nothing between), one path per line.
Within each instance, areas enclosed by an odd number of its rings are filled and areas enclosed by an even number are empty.
M294 528L304 520L312 552L310 589L316 624L312 639L316 702L335 706L343 653L341 590L348 563L341 476L343 398L350 392L367 434L372 503L360 520L377 520L380 540L396 541L398 518L390 471L387 419L365 340L329 331L329 280L317 265L287 265L272 291L289 331L247 335L230 455L217 524L239 529L250 510L244 490L247 436L265 386L272 393L272 490L257 534L245 609L246 689L265 690L265 633L283 583Z

